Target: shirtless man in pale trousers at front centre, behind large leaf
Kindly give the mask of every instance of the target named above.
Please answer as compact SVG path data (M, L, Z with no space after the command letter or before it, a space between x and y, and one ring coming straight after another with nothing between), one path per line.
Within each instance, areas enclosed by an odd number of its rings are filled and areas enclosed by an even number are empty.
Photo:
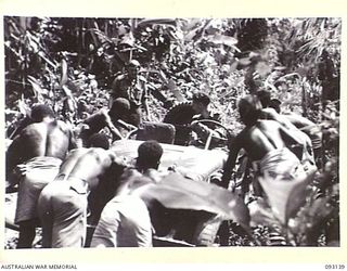
M155 141L146 141L139 146L138 154L136 168L124 172L116 196L102 210L91 247L152 246L151 199L141 193L160 179L156 170L163 149Z

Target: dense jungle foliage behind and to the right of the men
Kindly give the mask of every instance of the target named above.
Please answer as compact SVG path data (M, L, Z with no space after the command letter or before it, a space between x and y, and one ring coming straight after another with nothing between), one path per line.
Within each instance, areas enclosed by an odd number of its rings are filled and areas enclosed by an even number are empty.
M269 188L273 198L255 217L253 235L229 230L227 245L269 245L270 224L287 245L333 245L339 240L330 235L338 235L339 217L340 27L339 18L324 17L5 16L5 137L36 102L52 105L72 126L108 106L112 82L130 60L141 65L150 93L144 118L151 121L162 121L170 106L203 91L221 122L236 133L243 127L239 99L269 90L283 113L319 125L323 166L306 181L310 189L293 184L277 194ZM154 95L157 91L168 104ZM317 188L323 195L317 196ZM271 212L273 206L280 216Z

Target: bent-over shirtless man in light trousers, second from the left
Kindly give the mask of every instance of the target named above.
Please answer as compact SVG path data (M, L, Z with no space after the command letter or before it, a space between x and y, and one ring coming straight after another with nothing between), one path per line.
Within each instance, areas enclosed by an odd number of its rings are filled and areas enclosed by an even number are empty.
M43 247L83 247L87 233L88 195L116 160L102 147L73 150L54 181L41 192L38 214Z

